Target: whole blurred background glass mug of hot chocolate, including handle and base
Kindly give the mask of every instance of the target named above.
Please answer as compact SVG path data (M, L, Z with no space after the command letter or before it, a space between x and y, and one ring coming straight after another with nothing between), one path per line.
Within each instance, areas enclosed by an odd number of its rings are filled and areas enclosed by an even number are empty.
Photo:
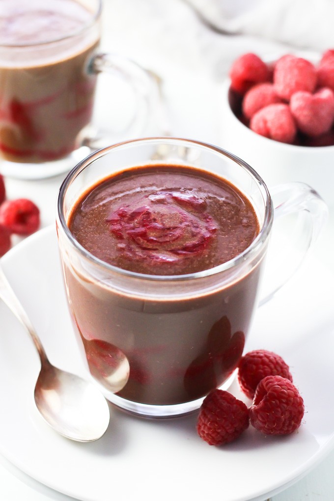
M45 0L0 2L1 173L52 176L76 165L90 147L143 135L155 116L156 81L125 58L98 53L100 36L101 0L48 0L47 9ZM101 72L114 78L109 77L104 103L109 122L115 123L109 103L115 74L129 91L122 100L119 122L124 127L118 135L92 127Z

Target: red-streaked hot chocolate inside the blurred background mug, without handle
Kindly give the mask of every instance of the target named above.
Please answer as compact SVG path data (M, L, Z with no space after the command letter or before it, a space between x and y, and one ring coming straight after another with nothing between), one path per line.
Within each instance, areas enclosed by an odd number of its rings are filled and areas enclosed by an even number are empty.
M62 158L92 116L98 44L93 15L75 0L0 2L0 155L15 162Z

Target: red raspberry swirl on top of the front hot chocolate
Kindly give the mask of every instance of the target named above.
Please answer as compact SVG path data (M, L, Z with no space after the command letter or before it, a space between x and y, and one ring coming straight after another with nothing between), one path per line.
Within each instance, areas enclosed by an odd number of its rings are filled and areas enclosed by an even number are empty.
M157 191L135 207L120 206L107 222L123 256L175 263L210 246L217 226L206 205L189 190Z

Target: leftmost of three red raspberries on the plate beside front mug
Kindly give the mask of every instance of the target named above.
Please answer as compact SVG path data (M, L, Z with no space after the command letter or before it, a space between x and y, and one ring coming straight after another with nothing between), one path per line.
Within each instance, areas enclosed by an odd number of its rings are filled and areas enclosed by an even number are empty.
M209 445L222 445L237 438L248 425L247 406L227 391L213 390L203 400L197 433Z

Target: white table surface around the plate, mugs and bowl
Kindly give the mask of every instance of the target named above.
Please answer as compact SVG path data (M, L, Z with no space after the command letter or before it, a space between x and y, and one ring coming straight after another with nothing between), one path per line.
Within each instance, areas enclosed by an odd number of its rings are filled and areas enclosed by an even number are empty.
M160 75L172 135L218 145L217 102L231 62L244 52L265 55L292 50L260 38L226 37L211 32L182 0L105 0L103 48L130 57ZM7 178L8 197L33 199L41 209L42 227L53 224L63 177L38 181ZM334 203L329 208L328 222L313 252L333 270ZM18 242L19 239L15 244ZM332 501L333 469L334 451L301 480L270 499ZM22 473L1 455L0 498L4 501L70 499Z

